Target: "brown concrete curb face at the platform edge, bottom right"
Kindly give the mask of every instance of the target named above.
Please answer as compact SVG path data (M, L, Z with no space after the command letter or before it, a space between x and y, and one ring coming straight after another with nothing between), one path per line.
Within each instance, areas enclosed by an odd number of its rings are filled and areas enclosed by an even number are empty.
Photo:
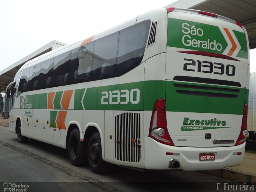
M208 171L200 171L201 173L212 175L215 177L223 178L226 180L252 184L256 186L256 176L244 172L230 170L228 168L223 168L219 170L208 170Z

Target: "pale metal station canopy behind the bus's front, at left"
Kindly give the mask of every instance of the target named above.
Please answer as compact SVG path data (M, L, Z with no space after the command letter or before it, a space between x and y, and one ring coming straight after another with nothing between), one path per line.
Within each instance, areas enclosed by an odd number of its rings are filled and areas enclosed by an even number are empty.
M42 54L50 52L56 48L62 47L66 45L65 43L58 42L53 40L52 42L46 44L45 46L41 47L40 49L34 51L33 53L29 54L28 56L22 58L21 60L17 61L16 63L12 64L11 66L7 67L6 69L0 72L0 92L5 91L6 87L9 83L11 83L14 79L15 74L18 70L29 60L32 60Z

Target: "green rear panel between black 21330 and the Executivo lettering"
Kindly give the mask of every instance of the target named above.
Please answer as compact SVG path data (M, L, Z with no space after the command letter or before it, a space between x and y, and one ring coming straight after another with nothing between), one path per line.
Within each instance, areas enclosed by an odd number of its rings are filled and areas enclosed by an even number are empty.
M245 95L245 88L166 81L166 111L242 115Z

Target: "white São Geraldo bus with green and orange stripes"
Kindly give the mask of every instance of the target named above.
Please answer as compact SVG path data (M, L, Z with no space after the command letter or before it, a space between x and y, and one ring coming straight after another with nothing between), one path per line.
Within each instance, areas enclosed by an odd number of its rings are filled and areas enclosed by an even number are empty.
M9 129L75 166L238 166L247 135L248 36L223 16L160 8L28 61L7 87Z

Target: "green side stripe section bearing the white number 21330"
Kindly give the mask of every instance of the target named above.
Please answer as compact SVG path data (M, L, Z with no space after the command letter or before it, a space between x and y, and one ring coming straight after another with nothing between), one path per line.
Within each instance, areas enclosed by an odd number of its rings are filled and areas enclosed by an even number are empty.
M87 88L82 102L87 110L142 111L143 85L144 82L133 82Z

